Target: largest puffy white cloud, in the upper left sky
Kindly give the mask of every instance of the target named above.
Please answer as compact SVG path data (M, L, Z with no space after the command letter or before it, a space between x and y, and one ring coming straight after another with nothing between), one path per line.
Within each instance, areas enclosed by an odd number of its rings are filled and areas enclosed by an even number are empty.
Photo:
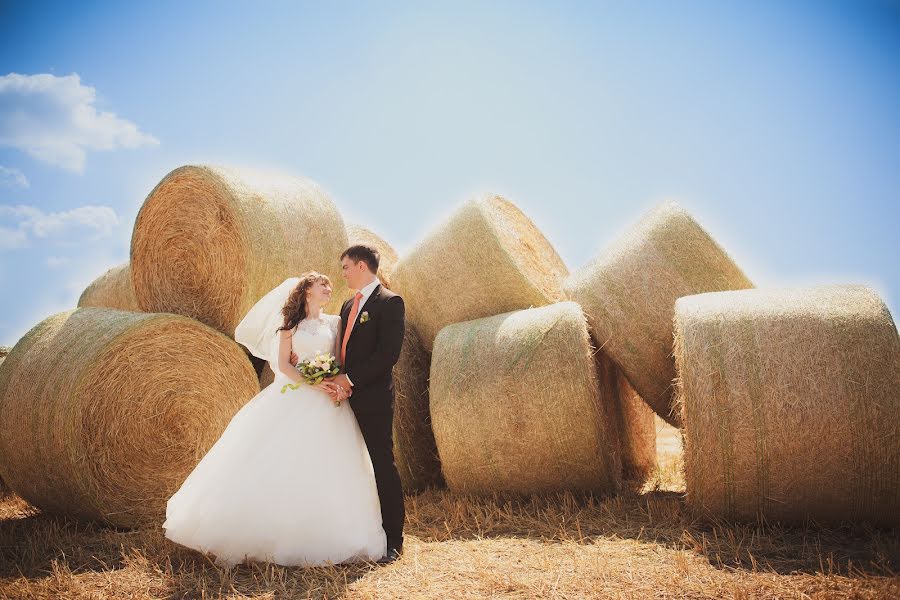
M94 107L97 92L77 73L0 77L0 145L82 172L86 150L159 144L134 123Z

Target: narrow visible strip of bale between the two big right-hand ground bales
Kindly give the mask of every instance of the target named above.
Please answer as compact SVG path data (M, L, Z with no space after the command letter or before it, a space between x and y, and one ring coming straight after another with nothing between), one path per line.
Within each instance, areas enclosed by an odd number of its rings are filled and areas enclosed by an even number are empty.
M615 365L611 359L607 360ZM615 374L622 476L629 481L644 482L656 470L656 413L634 391L621 369L615 367Z

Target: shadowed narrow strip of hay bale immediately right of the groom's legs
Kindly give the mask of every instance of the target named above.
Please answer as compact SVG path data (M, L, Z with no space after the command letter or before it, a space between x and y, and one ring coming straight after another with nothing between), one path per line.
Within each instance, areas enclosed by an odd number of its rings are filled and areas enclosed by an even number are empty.
M428 406L430 368L431 355L407 323L394 365L394 458L406 492L444 483Z

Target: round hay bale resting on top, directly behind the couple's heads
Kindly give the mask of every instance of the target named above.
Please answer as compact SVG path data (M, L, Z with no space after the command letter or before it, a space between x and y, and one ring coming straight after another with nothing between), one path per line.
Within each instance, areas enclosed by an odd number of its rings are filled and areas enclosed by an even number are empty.
M138 303L234 336L264 294L316 270L334 284L329 312L347 295L344 222L308 179L247 169L184 166L166 175L138 213L131 269Z

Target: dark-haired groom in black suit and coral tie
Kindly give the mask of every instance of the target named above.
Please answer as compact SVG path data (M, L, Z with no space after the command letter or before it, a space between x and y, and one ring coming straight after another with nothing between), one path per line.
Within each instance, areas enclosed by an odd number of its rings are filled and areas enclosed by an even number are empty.
M387 534L387 554L378 561L390 563L403 553L403 488L394 463L394 380L392 370L403 345L403 298L375 276L378 251L366 245L350 246L341 254L343 277L358 290L341 308L341 356L343 372L332 381L351 393L350 407L362 431L381 502L381 520Z

